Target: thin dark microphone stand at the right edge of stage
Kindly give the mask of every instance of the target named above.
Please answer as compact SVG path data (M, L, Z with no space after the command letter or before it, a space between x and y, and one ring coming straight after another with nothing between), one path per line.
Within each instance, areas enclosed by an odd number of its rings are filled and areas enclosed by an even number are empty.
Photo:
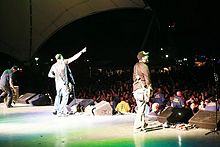
M219 128L218 128L218 113L217 113L217 108L218 108L218 75L215 72L215 65L213 63L213 68L214 68L214 80L215 80L215 89L214 89L214 96L215 96L215 125L216 127L214 128L214 130L206 133L205 135L208 135L210 133L214 133L214 134L219 134Z

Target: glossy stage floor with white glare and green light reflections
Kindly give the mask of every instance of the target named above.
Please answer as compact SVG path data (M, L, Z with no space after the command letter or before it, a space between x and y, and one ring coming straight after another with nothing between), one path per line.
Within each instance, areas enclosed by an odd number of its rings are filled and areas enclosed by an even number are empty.
M220 146L220 135L208 129L162 128L133 133L135 114L57 117L52 106L0 104L1 147L190 147Z

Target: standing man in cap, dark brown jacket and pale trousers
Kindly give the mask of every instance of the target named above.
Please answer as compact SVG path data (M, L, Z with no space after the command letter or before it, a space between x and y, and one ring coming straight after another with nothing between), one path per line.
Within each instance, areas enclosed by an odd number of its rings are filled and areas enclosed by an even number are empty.
M152 94L148 52L140 51L137 55L138 62L133 69L133 95L137 103L137 114L134 121L134 132L144 131L147 127L145 122L145 108Z

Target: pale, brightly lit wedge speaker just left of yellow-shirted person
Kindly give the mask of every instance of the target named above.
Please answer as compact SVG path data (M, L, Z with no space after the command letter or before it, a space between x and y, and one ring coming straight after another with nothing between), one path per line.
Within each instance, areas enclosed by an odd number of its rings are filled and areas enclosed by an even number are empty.
M94 115L112 115L112 107L109 102L101 101L93 109Z

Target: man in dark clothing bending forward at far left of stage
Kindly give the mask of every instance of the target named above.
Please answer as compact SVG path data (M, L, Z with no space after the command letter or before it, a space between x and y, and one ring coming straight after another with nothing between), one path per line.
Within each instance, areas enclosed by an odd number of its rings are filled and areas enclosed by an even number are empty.
M13 107L12 98L13 92L15 92L15 88L13 85L13 74L18 70L17 66L13 66L11 69L6 69L1 76L0 79L0 99L5 98L7 96L6 106L8 108ZM12 92L13 91L13 92Z

